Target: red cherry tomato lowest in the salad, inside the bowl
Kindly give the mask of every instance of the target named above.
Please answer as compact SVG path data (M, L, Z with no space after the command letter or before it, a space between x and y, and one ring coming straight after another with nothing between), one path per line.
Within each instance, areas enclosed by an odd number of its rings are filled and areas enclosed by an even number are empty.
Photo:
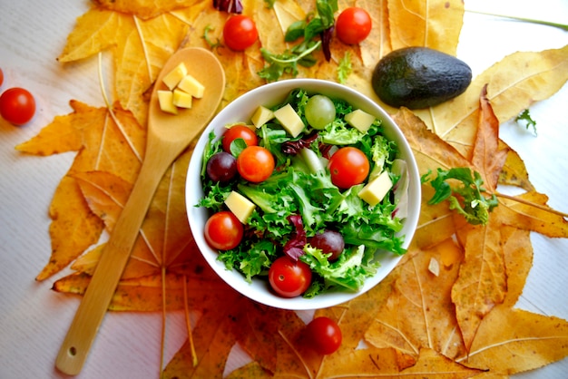
M269 283L279 296L300 296L311 283L311 270L302 261L294 262L289 257L280 257L270 265Z

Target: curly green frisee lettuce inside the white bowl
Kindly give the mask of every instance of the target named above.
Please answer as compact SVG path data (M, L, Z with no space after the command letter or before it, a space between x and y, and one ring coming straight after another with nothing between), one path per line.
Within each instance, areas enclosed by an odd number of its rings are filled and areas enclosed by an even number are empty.
M304 112L308 99L308 92L295 90L272 110L289 103L308 125ZM337 120L322 131L314 131L307 126L298 137L292 138L277 120L269 121L258 130L260 145L269 149L277 161L277 169L268 180L255 184L237 179L220 184L213 183L202 171L205 197L199 206L219 211L231 190L237 190L257 206L245 226L247 237L237 248L221 251L219 255L228 269L239 270L247 281L266 276L270 263L285 253L283 250L288 244L295 246L296 253L303 249L303 253L297 255L314 273L312 286L304 296L316 296L336 289L356 291L380 267L375 259L377 250L397 255L406 252L404 237L397 236L403 227L403 220L396 216L397 197L391 193L376 206L369 206L357 196L365 184L339 190L331 182L325 163L322 165L324 170L314 170L311 168L313 165L304 161L302 154L282 152L283 143L298 144L301 149L311 150L312 159L315 156L325 161L320 147L329 144L355 146L367 155L372 172L390 171L397 155L397 144L384 137L381 122L375 121L367 133L361 133L344 120L346 114L354 111L353 107L342 100L332 101L336 106ZM235 149L231 145L231 151L237 155L242 146L238 140L233 143ZM220 140L210 135L203 166L220 150ZM391 172L390 175L394 183L402 176L400 172ZM290 222L291 219L297 222ZM308 243L304 245L294 241L299 233L310 238L325 228L337 230L346 243L345 251L335 262L328 262L321 250Z

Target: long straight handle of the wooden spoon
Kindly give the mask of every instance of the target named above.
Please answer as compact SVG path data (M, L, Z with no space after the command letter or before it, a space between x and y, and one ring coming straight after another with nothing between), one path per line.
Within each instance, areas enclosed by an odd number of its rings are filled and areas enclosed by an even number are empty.
M81 372L122 277L153 194L167 168L168 162L165 160L143 161L132 193L103 248L91 283L57 355L55 366L64 374L75 375Z

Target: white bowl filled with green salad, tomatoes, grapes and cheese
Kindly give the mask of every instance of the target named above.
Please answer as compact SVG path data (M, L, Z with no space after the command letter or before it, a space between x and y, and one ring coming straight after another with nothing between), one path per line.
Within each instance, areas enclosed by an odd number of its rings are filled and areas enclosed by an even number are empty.
M187 175L191 232L244 296L334 306L387 276L416 229L420 180L397 125L338 83L269 83L231 102Z

